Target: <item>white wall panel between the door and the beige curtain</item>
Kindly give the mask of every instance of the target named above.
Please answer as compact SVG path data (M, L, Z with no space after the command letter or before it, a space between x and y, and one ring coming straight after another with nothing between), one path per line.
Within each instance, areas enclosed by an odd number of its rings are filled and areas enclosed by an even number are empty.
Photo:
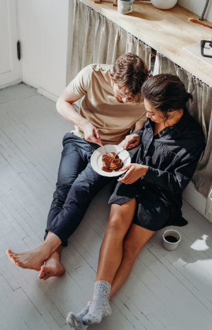
M18 0L23 82L60 96L72 44L73 0Z

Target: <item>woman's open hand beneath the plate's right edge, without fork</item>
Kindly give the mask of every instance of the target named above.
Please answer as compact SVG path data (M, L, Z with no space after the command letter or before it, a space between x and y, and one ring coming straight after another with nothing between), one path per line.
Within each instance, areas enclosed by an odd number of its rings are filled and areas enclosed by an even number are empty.
M123 176L123 178L118 178L118 181L125 183L125 185L131 185L131 183L136 182L142 175L145 176L145 174L147 173L148 166L140 164L130 164L129 166L120 169L120 171L125 171L125 169L129 170L125 173L125 176Z

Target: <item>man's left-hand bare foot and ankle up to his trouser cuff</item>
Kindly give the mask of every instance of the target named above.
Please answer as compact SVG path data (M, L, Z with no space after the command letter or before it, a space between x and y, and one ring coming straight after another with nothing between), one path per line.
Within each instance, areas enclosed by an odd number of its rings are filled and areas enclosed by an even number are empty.
M14 265L21 268L39 271L41 270L43 263L50 257L51 254L53 254L54 251L56 251L60 245L60 238L49 231L45 241L31 251L15 254L11 249L7 249L6 254Z

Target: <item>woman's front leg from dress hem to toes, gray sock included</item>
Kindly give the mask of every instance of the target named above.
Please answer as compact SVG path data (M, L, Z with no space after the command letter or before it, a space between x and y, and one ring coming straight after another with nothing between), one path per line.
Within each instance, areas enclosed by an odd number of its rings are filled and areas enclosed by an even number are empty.
M135 198L123 205L112 205L109 223L100 247L92 305L89 307L88 313L82 318L78 318L72 313L69 314L68 322L70 325L77 322L77 328L84 329L84 324L99 323L103 317L111 314L109 292L123 258L123 240L134 218L135 210Z

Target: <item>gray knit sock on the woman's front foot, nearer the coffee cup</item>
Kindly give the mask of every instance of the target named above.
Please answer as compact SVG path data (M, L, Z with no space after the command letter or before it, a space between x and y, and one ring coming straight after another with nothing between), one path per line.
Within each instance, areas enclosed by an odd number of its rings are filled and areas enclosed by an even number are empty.
M109 306L109 292L111 285L104 280L95 282L94 298L89 312L83 316L84 324L94 324L101 322L104 316L109 316L112 310Z

